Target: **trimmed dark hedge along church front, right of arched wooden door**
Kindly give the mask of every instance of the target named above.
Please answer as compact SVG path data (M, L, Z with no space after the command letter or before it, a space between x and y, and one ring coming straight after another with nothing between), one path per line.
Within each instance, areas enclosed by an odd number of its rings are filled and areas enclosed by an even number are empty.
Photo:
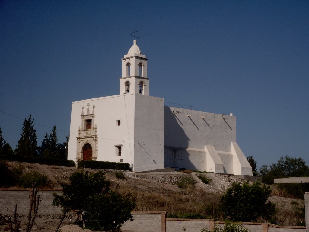
M113 169L113 170L130 170L130 164L122 162L95 161L95 160L80 160L78 168L91 169Z

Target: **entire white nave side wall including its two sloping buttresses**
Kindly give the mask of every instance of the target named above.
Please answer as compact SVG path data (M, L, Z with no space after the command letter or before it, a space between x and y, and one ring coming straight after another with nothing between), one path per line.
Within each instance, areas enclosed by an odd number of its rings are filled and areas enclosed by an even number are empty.
M252 175L236 141L236 117L165 106L166 167Z

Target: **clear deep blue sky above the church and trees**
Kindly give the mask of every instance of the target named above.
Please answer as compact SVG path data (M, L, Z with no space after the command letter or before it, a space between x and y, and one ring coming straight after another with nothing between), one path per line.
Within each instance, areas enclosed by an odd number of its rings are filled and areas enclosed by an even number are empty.
M308 12L309 1L2 0L2 135L15 149L32 114L39 145L54 125L64 142L72 101L119 94L136 29L150 95L233 113L258 166L308 161Z

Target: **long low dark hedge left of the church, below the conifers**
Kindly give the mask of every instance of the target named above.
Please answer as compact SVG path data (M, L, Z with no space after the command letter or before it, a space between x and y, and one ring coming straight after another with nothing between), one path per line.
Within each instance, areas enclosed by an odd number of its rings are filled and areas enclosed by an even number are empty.
M67 159L53 159L42 157L26 157L26 156L0 156L0 160L19 161L36 164L49 164L64 167L75 167L75 162Z

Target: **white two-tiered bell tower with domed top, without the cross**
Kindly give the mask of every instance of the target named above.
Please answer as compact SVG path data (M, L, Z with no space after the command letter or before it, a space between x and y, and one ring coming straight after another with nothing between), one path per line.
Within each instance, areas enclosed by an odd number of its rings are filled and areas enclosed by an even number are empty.
M149 95L147 60L146 56L142 55L136 40L134 40L128 54L121 58L120 94L139 93Z

